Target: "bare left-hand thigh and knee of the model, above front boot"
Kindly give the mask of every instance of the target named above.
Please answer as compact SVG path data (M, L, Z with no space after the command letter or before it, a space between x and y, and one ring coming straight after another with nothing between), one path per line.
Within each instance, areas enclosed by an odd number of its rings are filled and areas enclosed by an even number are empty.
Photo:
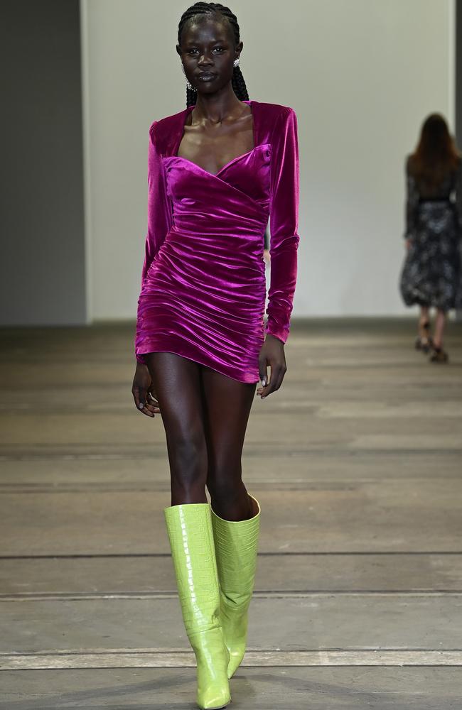
M173 353L149 353L146 365L166 432L171 504L207 503L200 365Z

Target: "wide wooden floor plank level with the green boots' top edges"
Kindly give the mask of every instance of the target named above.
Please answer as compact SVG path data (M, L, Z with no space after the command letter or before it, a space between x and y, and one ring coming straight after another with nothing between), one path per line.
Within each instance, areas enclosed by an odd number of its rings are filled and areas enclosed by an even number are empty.
M283 475L283 474L281 474ZM256 487L261 552L461 552L462 479ZM167 553L161 493L4 493L0 554Z

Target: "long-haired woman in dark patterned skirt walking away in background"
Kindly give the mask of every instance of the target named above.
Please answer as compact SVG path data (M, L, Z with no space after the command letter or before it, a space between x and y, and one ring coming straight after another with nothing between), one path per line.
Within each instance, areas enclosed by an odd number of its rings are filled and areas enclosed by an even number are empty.
M420 306L416 347L446 362L446 314L461 305L462 160L443 116L431 114L407 158L407 258L401 275L406 305ZM436 308L434 335L430 308Z

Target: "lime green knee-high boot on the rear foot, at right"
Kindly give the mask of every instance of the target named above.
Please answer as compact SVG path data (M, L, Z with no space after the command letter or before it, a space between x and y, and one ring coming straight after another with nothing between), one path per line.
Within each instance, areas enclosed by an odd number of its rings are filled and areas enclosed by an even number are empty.
M257 512L249 520L223 520L212 510L220 581L220 616L225 643L230 652L228 678L240 666L247 643L247 611L254 591L260 527L260 506L255 498L252 501Z

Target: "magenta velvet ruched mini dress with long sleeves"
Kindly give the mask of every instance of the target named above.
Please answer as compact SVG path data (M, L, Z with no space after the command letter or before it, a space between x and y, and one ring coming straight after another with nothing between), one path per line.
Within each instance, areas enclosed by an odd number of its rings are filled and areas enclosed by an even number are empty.
M144 363L146 353L176 353L255 383L265 331L282 342L289 334L299 246L299 154L294 109L244 103L252 109L254 148L216 175L177 155L193 107L149 129L148 232L135 354Z

